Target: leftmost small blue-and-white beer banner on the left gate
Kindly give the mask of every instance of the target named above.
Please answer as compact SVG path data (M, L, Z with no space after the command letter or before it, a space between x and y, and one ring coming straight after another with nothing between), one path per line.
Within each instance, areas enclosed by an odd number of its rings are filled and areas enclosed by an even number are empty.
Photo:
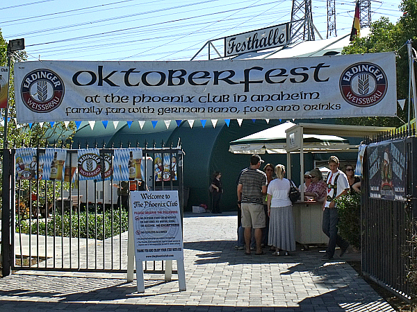
M31 180L38 178L36 148L18 148L15 153L15 161L16 180Z

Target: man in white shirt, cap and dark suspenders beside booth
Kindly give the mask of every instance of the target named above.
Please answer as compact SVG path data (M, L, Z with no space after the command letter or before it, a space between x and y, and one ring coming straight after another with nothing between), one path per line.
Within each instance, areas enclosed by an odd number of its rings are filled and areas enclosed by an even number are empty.
M329 158L330 172L327 175L327 196L325 204L323 206L323 232L329 237L329 245L327 246L326 254L322 257L322 260L333 260L334 250L336 245L341 248L339 257L343 257L349 243L341 238L337 234L338 228L338 211L335 200L339 197L346 195L350 190L349 182L343 171L338 169L339 161L336 156Z

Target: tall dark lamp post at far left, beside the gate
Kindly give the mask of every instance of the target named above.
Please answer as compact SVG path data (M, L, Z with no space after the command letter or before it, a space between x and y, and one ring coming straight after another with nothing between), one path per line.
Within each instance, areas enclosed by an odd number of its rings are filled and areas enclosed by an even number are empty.
M8 64L8 75L10 82L10 58L13 51L19 51L24 49L24 39L10 40L7 45L7 64ZM3 198L3 207L1 209L1 261L3 268L1 272L3 276L10 275L11 266L12 266L12 245L11 245L11 231L10 231L10 210L11 207L14 209L14 202L12 204L12 193L11 185L14 181L12 175L12 155L10 150L7 148L7 119L8 119L8 97L10 93L10 83L8 83L7 89L7 100L6 107L4 109L4 133L3 133L3 186L2 186L2 198Z

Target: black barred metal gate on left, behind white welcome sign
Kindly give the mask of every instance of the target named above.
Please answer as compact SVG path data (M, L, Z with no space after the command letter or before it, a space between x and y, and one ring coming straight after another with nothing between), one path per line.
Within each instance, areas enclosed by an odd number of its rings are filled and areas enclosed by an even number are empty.
M45 150L37 148L36 154ZM99 149L101 163L110 155L113 166L114 151ZM81 181L78 173L72 182L15 180L15 166L19 165L15 164L15 153L16 149L3 150L3 276L9 275L10 270L126 272L129 209L117 195L122 183L129 183L131 191L178 190L183 216L180 142L177 147L146 144L142 148L142 182L113 181L113 175L110 180ZM78 149L67 149L67 154L77 153ZM72 162L76 157L67 159ZM158 175L158 166L175 166L175 171ZM163 261L147 261L145 272L163 272L163 266Z

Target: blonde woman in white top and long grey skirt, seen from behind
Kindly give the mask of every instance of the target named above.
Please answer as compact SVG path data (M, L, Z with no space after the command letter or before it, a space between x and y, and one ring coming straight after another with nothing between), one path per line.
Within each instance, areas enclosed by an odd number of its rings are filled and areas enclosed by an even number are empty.
M267 191L270 216L268 245L275 247L275 256L288 256L288 251L295 250L293 203L289 198L290 180L284 177L284 165L275 166L275 174L277 179L270 182Z

